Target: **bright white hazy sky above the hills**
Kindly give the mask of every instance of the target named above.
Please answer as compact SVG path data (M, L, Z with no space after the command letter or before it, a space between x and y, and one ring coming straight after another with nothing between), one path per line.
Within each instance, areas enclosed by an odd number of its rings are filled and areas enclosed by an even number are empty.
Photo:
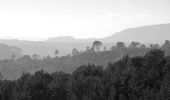
M170 22L170 0L0 0L0 38L105 37Z

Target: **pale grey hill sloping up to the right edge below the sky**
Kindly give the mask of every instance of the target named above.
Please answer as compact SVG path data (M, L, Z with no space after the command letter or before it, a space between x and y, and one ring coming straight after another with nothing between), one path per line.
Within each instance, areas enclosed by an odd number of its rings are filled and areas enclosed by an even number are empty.
M129 28L118 32L110 37L101 39L105 42L149 42L163 43L165 40L170 40L170 24L150 25L137 28Z

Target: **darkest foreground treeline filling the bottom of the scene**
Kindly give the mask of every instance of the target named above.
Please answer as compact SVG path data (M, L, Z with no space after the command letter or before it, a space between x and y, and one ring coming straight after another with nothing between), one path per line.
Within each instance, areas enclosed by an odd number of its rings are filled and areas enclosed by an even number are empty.
M170 57L153 49L105 69L88 64L72 74L41 70L17 80L1 77L0 100L170 100Z

